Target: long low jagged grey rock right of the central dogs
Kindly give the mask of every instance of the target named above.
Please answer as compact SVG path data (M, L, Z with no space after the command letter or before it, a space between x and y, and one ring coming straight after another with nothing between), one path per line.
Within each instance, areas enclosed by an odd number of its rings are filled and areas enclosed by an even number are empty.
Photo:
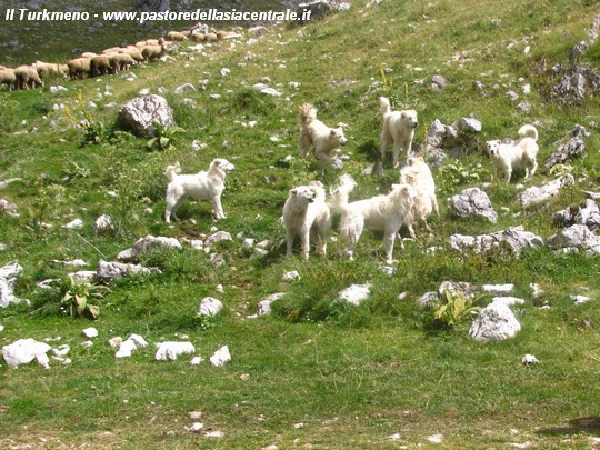
M541 246L543 246L542 238L530 231L524 231L522 227L507 228L490 234L452 234L450 237L450 247L461 252L482 253L502 248L519 257L523 249Z

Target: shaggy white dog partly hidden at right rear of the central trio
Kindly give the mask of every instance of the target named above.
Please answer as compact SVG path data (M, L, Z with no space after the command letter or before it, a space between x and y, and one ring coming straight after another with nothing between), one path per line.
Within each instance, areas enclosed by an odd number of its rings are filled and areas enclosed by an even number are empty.
M408 159L407 166L400 170L400 182L410 184L414 188L417 198L412 206L413 218L420 219L426 228L431 231L427 224L427 217L431 214L432 211L439 216L440 209L436 197L436 181L433 180L429 166L427 166L422 157L411 157ZM408 229L412 239L416 239L412 223L408 223Z

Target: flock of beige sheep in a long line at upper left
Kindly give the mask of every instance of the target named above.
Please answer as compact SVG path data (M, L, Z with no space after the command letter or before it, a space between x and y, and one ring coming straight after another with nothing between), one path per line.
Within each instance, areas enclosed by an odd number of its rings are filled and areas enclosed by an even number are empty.
M23 64L17 68L0 66L0 88L34 89L43 87L43 80L50 76L67 77L71 80L98 77L107 73L118 73L128 70L131 66L162 58L167 47L174 42L191 40L194 42L217 42L228 37L237 36L233 31L209 32L208 26L198 23L190 30L170 31L167 39L148 39L136 42L133 46L111 47L102 53L84 52L66 64L36 61L33 64Z

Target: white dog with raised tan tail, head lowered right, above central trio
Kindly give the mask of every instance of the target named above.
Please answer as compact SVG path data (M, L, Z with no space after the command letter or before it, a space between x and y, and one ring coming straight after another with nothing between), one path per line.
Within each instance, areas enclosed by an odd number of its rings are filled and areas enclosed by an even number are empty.
M317 119L317 109L310 103L300 107L300 156L306 158L313 146L314 158L321 162L321 168L331 160L334 150L348 142L341 128L330 128Z

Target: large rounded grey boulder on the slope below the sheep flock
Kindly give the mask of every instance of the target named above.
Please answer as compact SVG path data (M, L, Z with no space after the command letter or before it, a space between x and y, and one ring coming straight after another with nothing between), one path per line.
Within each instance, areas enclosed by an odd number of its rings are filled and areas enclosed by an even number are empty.
M156 123L164 128L176 127L173 111L164 97L138 97L121 107L119 120L123 127L133 130L138 136L152 138L156 136Z

